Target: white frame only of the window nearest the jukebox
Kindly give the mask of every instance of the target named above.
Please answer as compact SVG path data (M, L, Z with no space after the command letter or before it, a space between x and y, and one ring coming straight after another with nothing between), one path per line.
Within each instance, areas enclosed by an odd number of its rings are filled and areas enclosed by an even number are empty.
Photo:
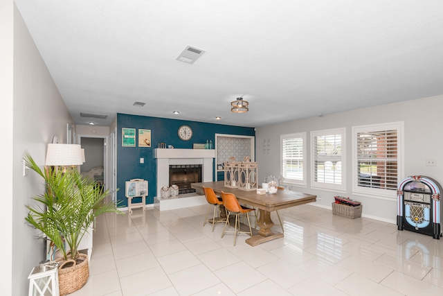
M397 130L397 184L404 179L404 121L392 123L376 123L352 127L352 194L364 195L370 198L397 200L395 189L377 189L359 186L359 152L358 137L360 132L381 132Z

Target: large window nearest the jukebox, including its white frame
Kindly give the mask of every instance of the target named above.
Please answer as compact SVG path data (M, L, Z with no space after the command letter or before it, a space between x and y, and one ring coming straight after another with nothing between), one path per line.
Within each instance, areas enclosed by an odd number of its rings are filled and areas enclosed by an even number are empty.
M352 189L395 198L401 173L403 123L352 128L354 177Z

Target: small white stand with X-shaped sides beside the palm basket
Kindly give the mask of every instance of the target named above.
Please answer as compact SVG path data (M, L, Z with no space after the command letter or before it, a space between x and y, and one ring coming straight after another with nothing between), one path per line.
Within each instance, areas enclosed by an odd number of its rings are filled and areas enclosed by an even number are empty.
M35 266L30 272L29 296L60 296L58 287L58 263ZM49 294L48 294L49 293Z

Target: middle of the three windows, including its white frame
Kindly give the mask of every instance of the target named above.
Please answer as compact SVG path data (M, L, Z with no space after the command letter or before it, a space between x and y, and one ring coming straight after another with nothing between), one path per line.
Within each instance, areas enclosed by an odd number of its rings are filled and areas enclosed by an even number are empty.
M345 190L345 128L311 132L311 187Z

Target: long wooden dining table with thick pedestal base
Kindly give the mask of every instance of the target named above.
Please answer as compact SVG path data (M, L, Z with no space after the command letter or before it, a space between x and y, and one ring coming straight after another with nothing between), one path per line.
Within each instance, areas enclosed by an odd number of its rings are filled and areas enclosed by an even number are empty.
M224 181L192 183L191 187L201 195L204 195L203 187L210 187L214 189L217 194L221 194L221 191L234 193L240 204L248 204L258 209L259 214L257 225L260 229L258 232L255 232L253 236L246 239L246 243L253 247L255 245L260 245L260 243L283 237L282 233L273 232L271 230L271 227L274 225L271 220L272 211L295 207L300 204L307 204L308 202L315 202L317 198L317 195L291 190L278 190L276 194L257 194L256 190L245 191L242 189L225 187Z

